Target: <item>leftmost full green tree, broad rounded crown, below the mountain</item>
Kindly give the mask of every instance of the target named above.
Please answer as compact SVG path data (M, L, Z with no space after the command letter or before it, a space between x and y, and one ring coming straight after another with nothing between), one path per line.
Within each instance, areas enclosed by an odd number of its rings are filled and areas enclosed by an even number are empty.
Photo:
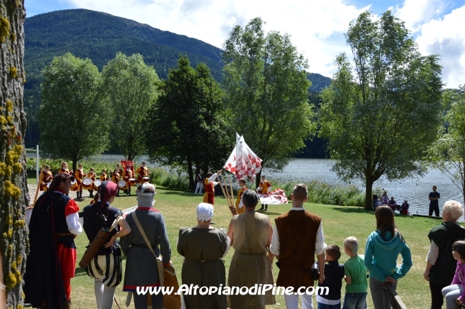
M41 148L52 157L78 160L99 155L109 144L108 107L102 78L90 59L55 57L42 71L39 111Z

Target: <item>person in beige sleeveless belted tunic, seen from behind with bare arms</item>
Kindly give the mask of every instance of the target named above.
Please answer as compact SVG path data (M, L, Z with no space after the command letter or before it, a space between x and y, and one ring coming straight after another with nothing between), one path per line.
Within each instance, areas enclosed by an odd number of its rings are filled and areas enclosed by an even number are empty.
M247 286L256 284L273 285L271 262L273 254L269 253L273 227L268 216L255 211L258 195L246 190L242 195L245 213L234 216L229 223L227 236L234 247L234 255L229 266L228 286ZM236 214L236 207L230 207ZM266 252L269 256L266 256ZM257 309L275 304L271 290L264 295L228 295L227 304L231 309ZM206 307L205 307L206 308Z

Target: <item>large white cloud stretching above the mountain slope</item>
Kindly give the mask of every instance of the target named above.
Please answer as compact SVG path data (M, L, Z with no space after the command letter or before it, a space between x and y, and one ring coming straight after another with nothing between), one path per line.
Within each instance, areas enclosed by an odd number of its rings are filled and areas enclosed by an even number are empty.
M348 51L341 34L350 21L370 8L357 8L344 0L67 0L87 8L147 23L152 27L198 38L221 47L234 25L260 16L265 30L292 35L293 44L310 71L331 76L337 54ZM338 39L335 40L334 37Z

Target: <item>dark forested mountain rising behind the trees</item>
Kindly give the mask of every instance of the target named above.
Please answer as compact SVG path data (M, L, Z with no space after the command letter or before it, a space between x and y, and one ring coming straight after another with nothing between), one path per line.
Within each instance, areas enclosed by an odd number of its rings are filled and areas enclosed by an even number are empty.
M39 14L26 19L25 25L26 83L24 104L27 112L25 144L34 147L39 138L37 112L41 104L40 88L43 68L54 56L71 52L80 58L90 58L99 70L117 52L126 55L139 53L152 65L159 78L166 78L170 68L177 67L180 54L186 54L194 67L205 62L212 76L219 82L223 64L221 49L196 38L159 30L130 19L91 10L61 10ZM319 106L319 91L328 87L331 79L317 73L307 78L312 82L309 89L310 103ZM76 115L78 117L78 115ZM52 120L52 119L51 119ZM53 119L56 120L56 119ZM303 157L322 157L314 143L307 145L300 154Z

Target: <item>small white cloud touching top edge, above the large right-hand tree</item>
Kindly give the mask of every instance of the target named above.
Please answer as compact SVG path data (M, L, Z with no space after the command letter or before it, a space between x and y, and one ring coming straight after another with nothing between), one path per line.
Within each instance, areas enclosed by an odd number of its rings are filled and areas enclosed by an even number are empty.
M411 32L417 32L423 23L441 16L451 5L448 0L405 0L402 6L396 5L392 9Z

